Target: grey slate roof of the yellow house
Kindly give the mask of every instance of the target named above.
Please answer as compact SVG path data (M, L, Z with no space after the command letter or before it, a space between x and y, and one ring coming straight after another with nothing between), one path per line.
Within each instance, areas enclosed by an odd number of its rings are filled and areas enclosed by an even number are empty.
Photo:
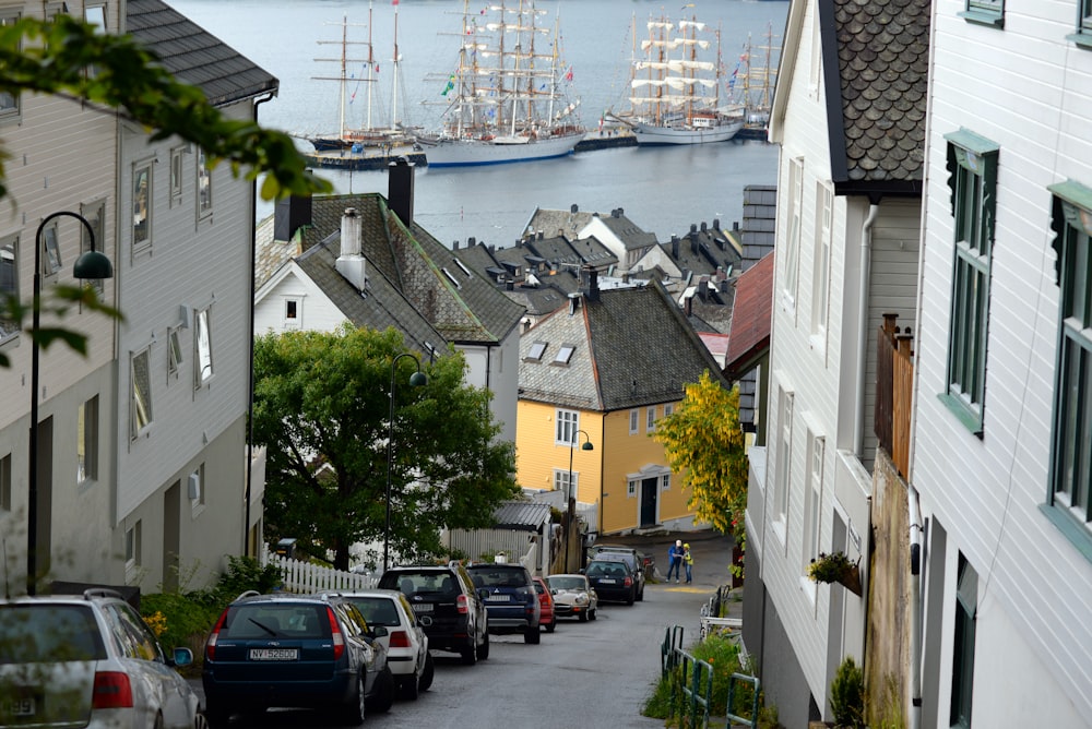
M597 290L577 297L520 337L520 398L608 413L677 401L716 361L664 287ZM529 361L545 342L543 358ZM562 345L573 352L555 363Z

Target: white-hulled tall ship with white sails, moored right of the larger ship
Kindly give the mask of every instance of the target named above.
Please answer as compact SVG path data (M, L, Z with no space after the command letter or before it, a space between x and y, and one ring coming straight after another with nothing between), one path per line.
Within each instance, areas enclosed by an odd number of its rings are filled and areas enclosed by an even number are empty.
M617 115L639 145L726 142L743 129L743 106L722 100L721 34L697 17L650 19L632 61L631 111ZM636 50L636 49L634 49Z

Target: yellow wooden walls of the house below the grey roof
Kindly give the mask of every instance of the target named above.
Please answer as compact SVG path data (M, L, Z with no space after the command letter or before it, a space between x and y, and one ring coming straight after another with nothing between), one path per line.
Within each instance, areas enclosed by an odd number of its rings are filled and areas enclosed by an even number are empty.
M527 401L520 401L517 408L517 480L525 489L553 489L554 469L569 469L569 446L554 443L556 410L554 405ZM657 405L655 417L661 418L663 415L664 406ZM594 450L584 451L580 447L584 442L583 435L580 435L578 444L571 449L572 471L579 475L577 501L597 503L601 494L605 493L601 510L602 524L589 525L592 530L612 534L641 526L642 486L638 483L636 493L629 495L628 477L649 466L667 467L663 445L648 433L646 418L648 409L640 408L638 431L630 434L629 410L608 414L580 410L579 428L587 433ZM684 492L681 476L672 474L667 491L657 486L654 522L662 524L691 516L687 509L688 499L689 493Z

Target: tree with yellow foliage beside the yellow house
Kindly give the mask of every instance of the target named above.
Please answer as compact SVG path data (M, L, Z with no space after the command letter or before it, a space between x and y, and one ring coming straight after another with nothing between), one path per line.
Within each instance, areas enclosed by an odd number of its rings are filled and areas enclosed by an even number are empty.
M679 408L656 422L653 438L664 444L672 470L685 474L696 518L743 545L748 467L738 389L725 390L705 371L686 386Z

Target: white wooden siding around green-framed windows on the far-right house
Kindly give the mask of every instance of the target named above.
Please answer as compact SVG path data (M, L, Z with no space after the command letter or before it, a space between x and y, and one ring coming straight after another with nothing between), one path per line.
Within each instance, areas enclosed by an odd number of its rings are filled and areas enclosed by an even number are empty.
M1046 188L1092 186L1092 53L1066 39L1071 2L1009 0L1004 32L965 22L961 0L935 8L912 478L925 515L948 534L950 562L962 552L980 575L975 726L1078 726L1092 716L1092 623L1072 611L1092 603L1092 564L1038 507L1048 491L1059 297ZM942 135L960 128L1000 147L982 438L936 397L953 241ZM947 569L945 606L956 599ZM935 638L935 721L948 717L952 630L946 614Z

